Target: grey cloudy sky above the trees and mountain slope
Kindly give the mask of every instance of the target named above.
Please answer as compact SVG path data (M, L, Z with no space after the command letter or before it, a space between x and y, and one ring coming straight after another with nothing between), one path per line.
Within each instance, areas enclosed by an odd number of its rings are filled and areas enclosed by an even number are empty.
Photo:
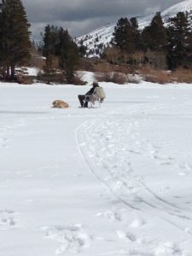
M79 37L120 17L148 15L178 2L182 0L23 0L35 39L47 24Z

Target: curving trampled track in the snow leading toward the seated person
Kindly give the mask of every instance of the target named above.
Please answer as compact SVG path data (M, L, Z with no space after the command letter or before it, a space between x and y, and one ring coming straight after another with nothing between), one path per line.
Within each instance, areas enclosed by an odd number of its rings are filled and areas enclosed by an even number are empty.
M184 231L191 225L190 212L156 195L131 166L131 155L138 160L149 157L144 150L152 147L139 129L139 123L131 117L90 119L77 129L76 138L90 171L119 201L139 212L155 214ZM183 224L177 224L177 218Z

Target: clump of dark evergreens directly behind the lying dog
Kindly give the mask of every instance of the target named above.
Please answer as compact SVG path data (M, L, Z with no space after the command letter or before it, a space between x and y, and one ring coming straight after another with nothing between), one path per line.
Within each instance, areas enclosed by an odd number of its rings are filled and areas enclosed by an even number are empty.
M79 48L68 31L62 27L45 26L42 52L46 58L44 76L47 82L56 79L59 68L63 70L59 79L67 84L73 83L74 70L79 64Z

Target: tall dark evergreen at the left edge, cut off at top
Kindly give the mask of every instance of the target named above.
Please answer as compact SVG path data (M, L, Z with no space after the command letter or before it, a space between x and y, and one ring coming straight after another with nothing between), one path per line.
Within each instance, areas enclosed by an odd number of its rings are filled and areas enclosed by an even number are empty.
M15 66L30 57L30 32L26 11L20 0L3 0L0 6L0 59L6 78L15 79Z

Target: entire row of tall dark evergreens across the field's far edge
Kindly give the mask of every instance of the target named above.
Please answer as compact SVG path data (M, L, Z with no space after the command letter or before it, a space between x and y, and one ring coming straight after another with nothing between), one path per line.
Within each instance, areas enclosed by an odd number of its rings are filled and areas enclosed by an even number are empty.
M156 68L192 67L192 20L187 12L179 12L165 26L159 13L148 26L140 30L137 18L120 18L114 27L110 46L102 57L112 63ZM15 67L30 59L31 32L26 10L21 0L2 0L0 3L0 77L15 80ZM74 70L84 55L83 44L75 44L68 31L47 25L42 34L44 75L48 81L58 75L72 83Z

